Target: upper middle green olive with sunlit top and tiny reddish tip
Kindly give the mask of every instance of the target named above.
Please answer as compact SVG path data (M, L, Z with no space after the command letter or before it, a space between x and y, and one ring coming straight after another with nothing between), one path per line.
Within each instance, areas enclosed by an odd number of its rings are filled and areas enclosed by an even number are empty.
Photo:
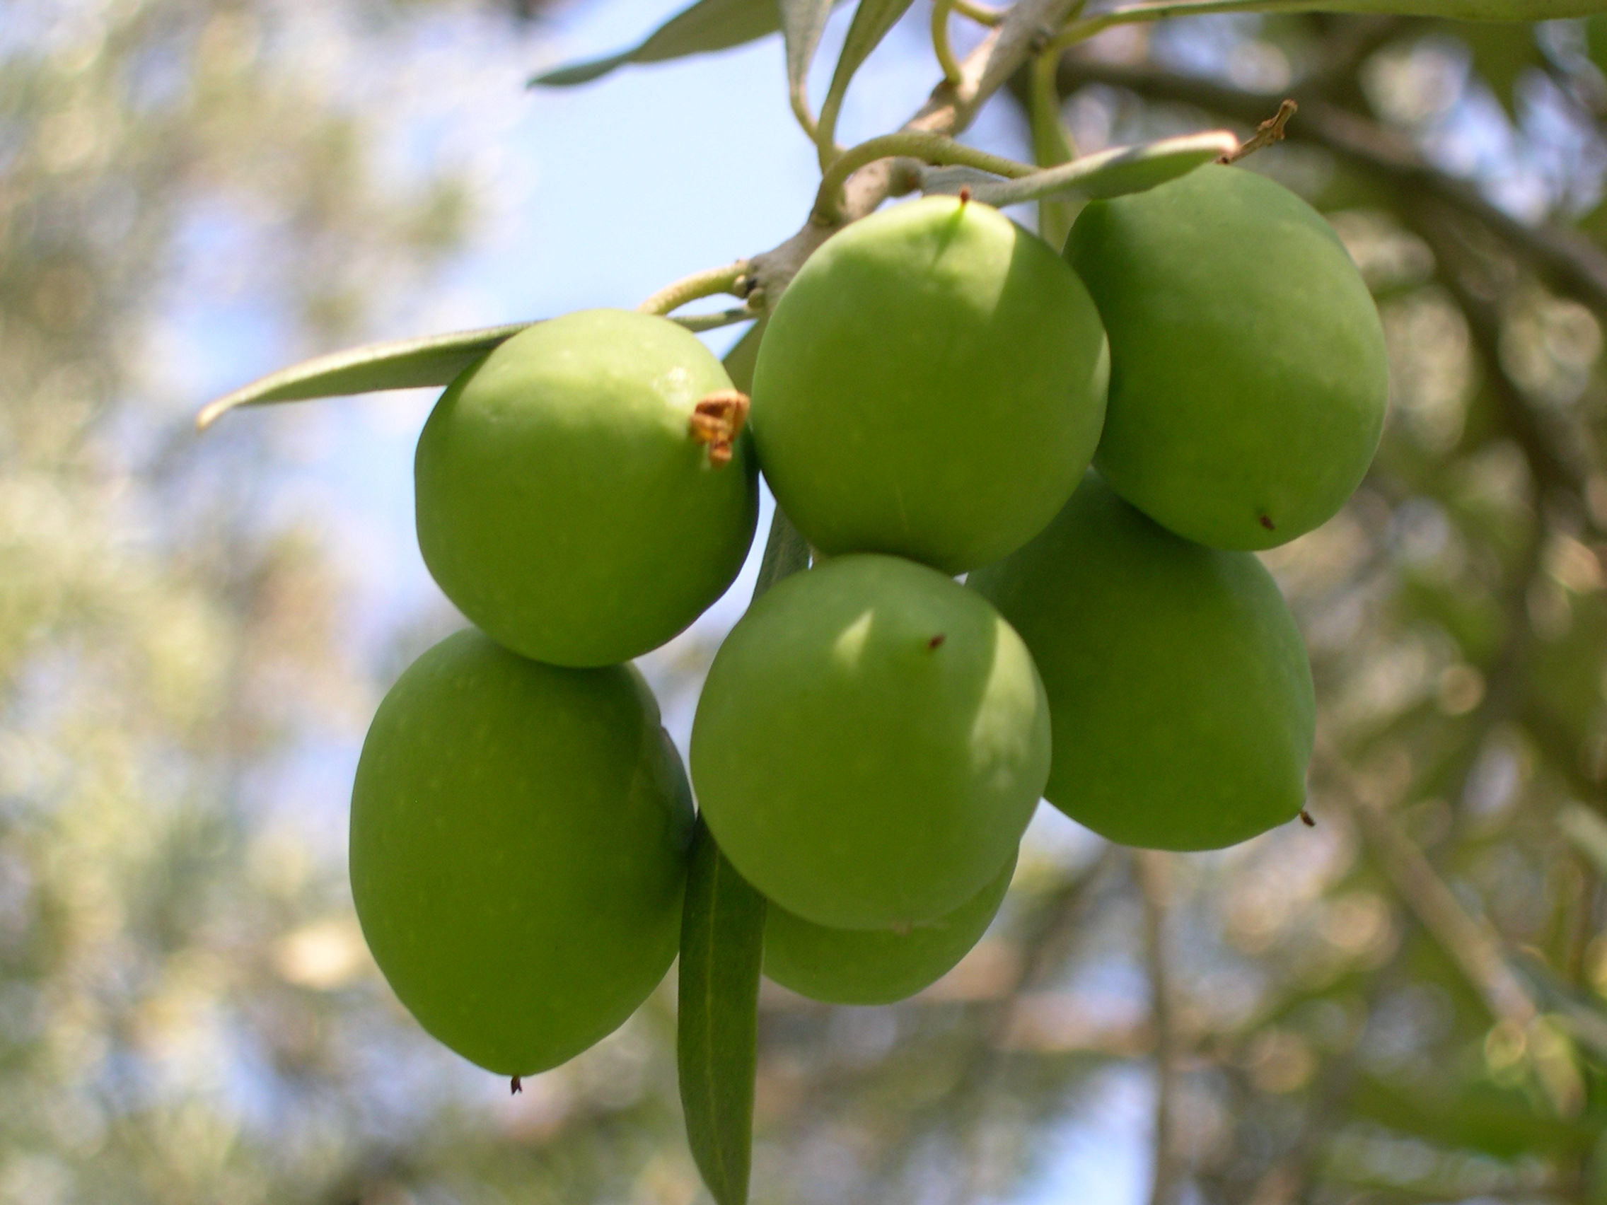
M934 196L804 263L759 349L754 435L815 548L958 574L1070 496L1107 373L1099 313L1054 251L996 209Z

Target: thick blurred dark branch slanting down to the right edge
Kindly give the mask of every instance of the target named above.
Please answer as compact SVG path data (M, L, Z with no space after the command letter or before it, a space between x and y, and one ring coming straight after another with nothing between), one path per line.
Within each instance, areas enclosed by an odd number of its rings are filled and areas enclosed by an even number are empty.
M1085 84L1106 84L1147 100L1208 109L1252 127L1282 100L1279 93L1244 92L1191 76L1094 63L1072 55L1061 59L1057 79L1062 96ZM1294 100L1300 104L1300 117L1289 127L1290 140L1323 146L1398 186L1438 198L1511 244L1557 288L1607 313L1607 254L1594 243L1573 231L1519 222L1490 204L1474 185L1430 167L1401 133L1361 114L1305 88L1297 88Z

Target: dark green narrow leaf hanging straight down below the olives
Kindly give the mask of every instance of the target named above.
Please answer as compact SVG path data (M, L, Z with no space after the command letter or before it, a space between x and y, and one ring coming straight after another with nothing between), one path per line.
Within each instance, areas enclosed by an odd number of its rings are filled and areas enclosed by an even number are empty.
M681 913L677 1064L686 1141L718 1205L746 1205L765 897L697 821Z

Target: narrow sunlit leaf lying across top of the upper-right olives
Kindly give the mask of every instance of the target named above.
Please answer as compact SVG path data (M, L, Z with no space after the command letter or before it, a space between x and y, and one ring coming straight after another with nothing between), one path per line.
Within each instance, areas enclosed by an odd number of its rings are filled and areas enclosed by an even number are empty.
M1231 133L1212 130L1139 146L1112 146L1016 180L1001 180L974 167L929 167L921 174L921 191L951 194L964 188L972 199L990 206L1045 198L1101 201L1163 185L1237 148L1239 140Z

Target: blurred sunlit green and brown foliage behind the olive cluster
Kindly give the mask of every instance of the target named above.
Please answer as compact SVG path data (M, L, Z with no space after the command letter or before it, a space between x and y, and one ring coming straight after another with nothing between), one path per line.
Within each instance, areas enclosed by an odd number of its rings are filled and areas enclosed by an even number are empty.
M389 996L339 858L262 807L452 619L354 652L336 558L265 504L272 442L196 442L154 321L249 288L325 349L426 288L463 180L370 146L387 55L471 16L540 39L530 3L6 5L3 1205L701 1195L670 991L505 1099ZM1607 18L1199 18L1064 59L1083 151L1297 98L1249 165L1379 299L1374 472L1268 556L1318 676L1316 826L1170 856L1043 818L930 991L767 985L757 1202L1607 1202L1604 67ZM710 654L651 659L667 707ZM1082 1168L1138 1144L1141 1183L1057 1174L1078 1141Z

